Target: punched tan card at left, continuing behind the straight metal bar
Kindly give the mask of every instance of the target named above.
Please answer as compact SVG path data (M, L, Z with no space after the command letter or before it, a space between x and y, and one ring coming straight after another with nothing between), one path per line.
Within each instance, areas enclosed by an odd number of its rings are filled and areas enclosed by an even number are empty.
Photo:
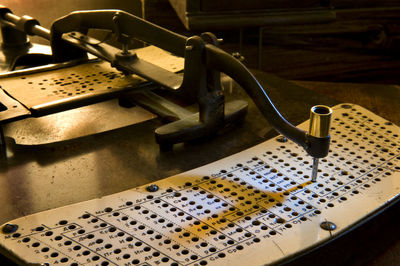
M183 69L179 58L157 47L149 46L135 50L138 57L171 72ZM92 62L57 70L43 71L18 77L1 79L1 87L29 109L57 104L66 99L95 97L133 89L145 80L126 76L110 66L109 62Z

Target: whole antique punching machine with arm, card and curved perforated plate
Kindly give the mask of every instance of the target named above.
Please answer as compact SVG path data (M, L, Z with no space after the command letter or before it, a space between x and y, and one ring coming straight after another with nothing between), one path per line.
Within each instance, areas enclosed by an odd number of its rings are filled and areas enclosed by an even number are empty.
M73 12L48 30L2 6L0 22L11 66L0 74L11 186L0 252L16 263L285 263L399 198L398 126L258 81L211 33L188 38L120 10ZM50 46L36 53L27 35ZM299 126L270 92L291 97Z

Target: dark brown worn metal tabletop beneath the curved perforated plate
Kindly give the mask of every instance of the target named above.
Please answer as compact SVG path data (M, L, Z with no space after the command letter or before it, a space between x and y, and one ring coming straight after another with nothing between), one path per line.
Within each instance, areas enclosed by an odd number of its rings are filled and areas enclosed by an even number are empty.
M262 72L255 72L255 74L260 83L268 88L268 93L278 109L293 124L307 120L310 107L315 104L334 105L338 103L338 100L343 100L343 97L339 97L340 93L339 96L336 95L337 91L334 94L337 100L334 100L295 84L279 86L282 85L279 81L271 80L269 75ZM318 90L318 83L304 83L304 85ZM327 87L326 84L324 86ZM335 87L334 84L330 86L332 90L335 90L332 88L332 86ZM383 86L367 94L363 94L363 85L358 84L356 87L358 94L344 97L346 101L349 99L351 102L362 105L365 99L370 97L372 105L365 106L364 104L364 107L399 124L397 111L387 113L384 111L387 108L393 110L399 107L398 87ZM348 91L346 86L341 86L341 90ZM354 88L352 90L357 91ZM321 89L319 91L329 94L329 91ZM224 158L277 134L242 89L227 82L225 94L228 100L242 98L249 101L249 113L245 122L239 127L228 128L213 138L177 145L170 152L161 152L155 143L153 131L161 125L158 119L43 145L20 145L8 140L9 158L0 166L0 200L3 203L0 208L0 222L4 223L31 213L151 183ZM377 98L376 94L386 100L377 101L376 99L380 98ZM345 93L342 93L343 95ZM106 109L104 113L107 113ZM79 113L75 115L77 121L85 121L88 118ZM105 115L101 119L102 123L113 123L113 118L110 116ZM71 124L72 129L74 125ZM381 242L380 247L388 247L394 242L397 244L400 242L399 239L393 240L391 236L395 232L390 231L399 231L391 226L396 210L399 209L398 205L392 206L371 221L372 228L379 228L379 232L369 233L370 238L382 238L385 232L387 234L386 238L381 239L383 243ZM357 242L357 239L371 230L371 222L361 227L364 230L361 233L357 229L326 246L328 249L326 247L318 249L294 261L293 264L310 263L315 259L328 265L343 262L353 265L371 262L373 264L385 250L368 246L375 243ZM347 239L347 242L343 244L342 239ZM357 245L363 248L360 250ZM378 250L378 253L365 254L365 249L371 248ZM341 256L337 256L338 253ZM332 254L334 254L333 258L330 257Z

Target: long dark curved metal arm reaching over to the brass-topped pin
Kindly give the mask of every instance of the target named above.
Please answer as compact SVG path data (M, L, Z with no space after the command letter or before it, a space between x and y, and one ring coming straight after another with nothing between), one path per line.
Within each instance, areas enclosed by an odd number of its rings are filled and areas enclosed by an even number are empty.
M189 40L192 40L191 38L188 39L123 11L78 11L57 20L52 26L51 40L56 60L65 55L58 49L61 46L62 34L89 27L109 29L126 37L156 45L179 56L187 55L185 51L199 49L188 43ZM212 44L205 44L202 53L206 68L223 72L238 82L253 99L265 119L279 133L304 147L313 157L321 158L327 155L329 135L323 138L312 136L288 122L276 109L264 88L239 60ZM117 66L120 63L118 59L114 62ZM126 64L121 64L125 70L130 70ZM136 73L135 69L131 69L131 72ZM184 83L186 81L185 74ZM191 81L189 83L193 84ZM325 113L326 110L321 110L321 112Z

